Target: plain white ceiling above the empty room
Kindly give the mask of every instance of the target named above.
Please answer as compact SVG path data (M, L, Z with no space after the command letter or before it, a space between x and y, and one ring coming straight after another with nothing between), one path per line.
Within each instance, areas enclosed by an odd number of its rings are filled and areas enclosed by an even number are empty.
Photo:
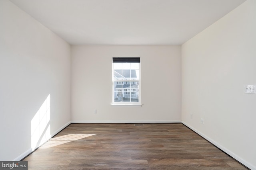
M180 45L245 0L10 0L72 45Z

